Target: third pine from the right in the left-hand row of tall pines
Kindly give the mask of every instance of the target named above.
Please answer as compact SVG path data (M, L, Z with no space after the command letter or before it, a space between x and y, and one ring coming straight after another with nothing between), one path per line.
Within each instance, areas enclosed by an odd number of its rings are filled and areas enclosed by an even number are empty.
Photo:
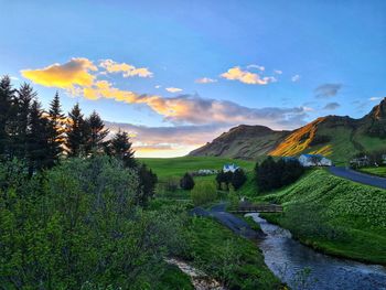
M79 104L76 104L68 114L66 148L69 157L81 157L85 153L87 123Z

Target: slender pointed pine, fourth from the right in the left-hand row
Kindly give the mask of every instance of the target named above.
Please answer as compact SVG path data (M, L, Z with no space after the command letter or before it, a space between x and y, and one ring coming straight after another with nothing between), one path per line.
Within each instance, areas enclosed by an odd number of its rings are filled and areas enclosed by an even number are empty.
M64 114L62 112L58 93L50 104L49 110L49 155L50 167L54 165L63 154L64 143Z

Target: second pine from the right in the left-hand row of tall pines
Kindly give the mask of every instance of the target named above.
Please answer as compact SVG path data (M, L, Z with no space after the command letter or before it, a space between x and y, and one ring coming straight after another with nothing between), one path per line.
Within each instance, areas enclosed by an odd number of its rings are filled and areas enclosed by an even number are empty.
M96 111L92 112L86 122L88 130L86 152L101 152L106 147L106 141L104 140L109 133L109 130L105 129L105 123Z

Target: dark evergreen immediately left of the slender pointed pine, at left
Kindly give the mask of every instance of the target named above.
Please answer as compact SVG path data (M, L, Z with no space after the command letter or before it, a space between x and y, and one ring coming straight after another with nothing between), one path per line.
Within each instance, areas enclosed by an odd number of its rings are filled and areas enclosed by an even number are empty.
M42 116L41 105L33 100L30 110L26 135L26 159L29 163L29 174L45 169L50 164L49 120Z

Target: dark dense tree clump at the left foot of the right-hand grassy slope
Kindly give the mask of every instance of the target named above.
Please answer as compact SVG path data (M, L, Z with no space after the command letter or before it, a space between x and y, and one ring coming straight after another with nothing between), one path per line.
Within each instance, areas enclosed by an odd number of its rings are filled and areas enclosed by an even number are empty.
M296 159L279 159L268 157L260 165L256 164L256 182L260 191L280 189L297 181L304 168Z

